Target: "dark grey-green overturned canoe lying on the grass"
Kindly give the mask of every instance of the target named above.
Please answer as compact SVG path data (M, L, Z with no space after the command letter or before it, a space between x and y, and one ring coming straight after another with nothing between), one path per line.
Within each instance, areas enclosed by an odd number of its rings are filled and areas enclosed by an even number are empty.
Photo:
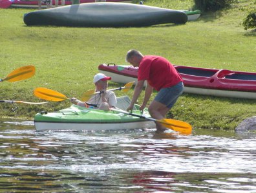
M24 15L24 22L31 25L131 27L155 24L184 24L187 15L177 10L129 3L85 3Z

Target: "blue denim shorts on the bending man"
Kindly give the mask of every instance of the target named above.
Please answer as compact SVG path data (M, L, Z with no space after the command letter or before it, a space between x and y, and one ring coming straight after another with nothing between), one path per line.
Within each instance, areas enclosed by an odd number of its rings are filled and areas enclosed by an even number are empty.
M164 104L167 108L171 109L174 106L178 96L182 95L184 90L183 82L178 82L175 86L165 87L160 89L155 97L157 102Z

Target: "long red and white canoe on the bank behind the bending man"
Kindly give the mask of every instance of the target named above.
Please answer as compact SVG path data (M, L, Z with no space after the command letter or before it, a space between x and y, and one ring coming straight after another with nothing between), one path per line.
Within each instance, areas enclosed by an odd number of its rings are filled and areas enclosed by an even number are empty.
M184 80L186 93L256 99L256 73L177 65L175 68ZM136 80L138 73L133 66L115 64L100 64L98 69L120 83Z

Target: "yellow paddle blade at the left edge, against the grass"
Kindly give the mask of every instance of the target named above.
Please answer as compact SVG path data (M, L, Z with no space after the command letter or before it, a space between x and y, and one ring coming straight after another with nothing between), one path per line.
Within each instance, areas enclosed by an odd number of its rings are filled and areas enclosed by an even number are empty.
M25 80L34 76L36 73L36 68L34 66L23 66L21 68L14 69L7 77L0 79L0 82L8 81L8 82L17 82L21 80Z

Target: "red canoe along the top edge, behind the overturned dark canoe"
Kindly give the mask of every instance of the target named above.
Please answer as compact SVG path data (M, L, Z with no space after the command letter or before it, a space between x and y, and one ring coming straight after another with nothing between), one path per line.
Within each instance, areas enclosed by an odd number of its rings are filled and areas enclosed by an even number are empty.
M94 3L95 0L80 0L80 3ZM107 2L118 2L118 3L131 3L131 0L107 0ZM71 5L71 0L65 0L65 5ZM55 6L55 0L52 0L53 7ZM58 5L61 5L61 0L58 0ZM0 0L0 8L13 7L25 7L25 8L37 8L37 0ZM42 7L46 5L42 3Z

